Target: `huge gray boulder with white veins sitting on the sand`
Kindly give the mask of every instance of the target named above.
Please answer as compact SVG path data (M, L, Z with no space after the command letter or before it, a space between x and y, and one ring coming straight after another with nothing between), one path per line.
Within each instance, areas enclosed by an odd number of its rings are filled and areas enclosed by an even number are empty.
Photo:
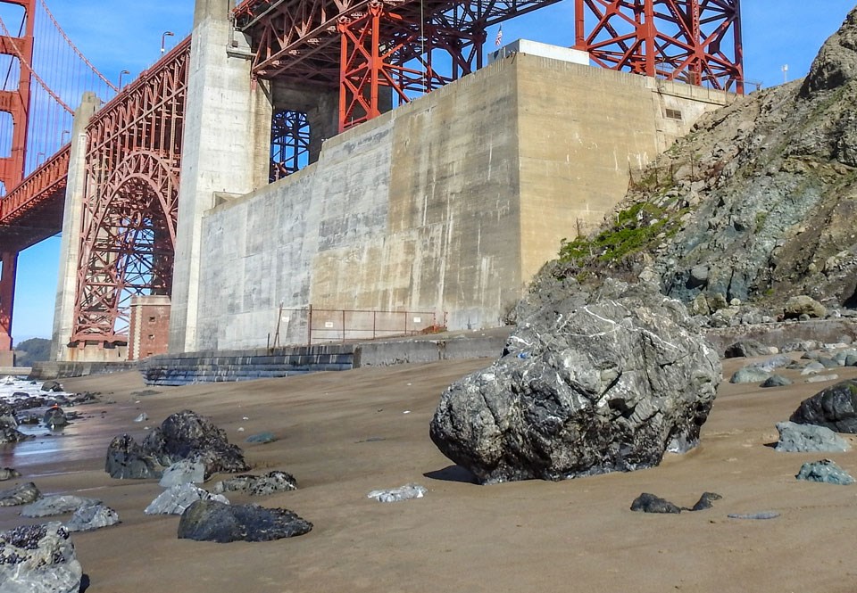
M645 286L528 304L492 366L453 383L429 434L479 482L658 465L695 446L721 380L680 302Z

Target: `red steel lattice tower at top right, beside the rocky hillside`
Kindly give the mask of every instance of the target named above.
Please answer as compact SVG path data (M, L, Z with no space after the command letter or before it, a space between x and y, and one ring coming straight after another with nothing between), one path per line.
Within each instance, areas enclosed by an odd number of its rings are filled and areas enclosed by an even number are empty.
M575 47L596 64L744 92L739 0L575 3Z

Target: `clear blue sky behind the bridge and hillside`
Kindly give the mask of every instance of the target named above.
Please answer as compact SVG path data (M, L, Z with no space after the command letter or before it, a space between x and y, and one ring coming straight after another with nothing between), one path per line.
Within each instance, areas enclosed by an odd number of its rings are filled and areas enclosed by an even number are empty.
M164 31L175 33L175 37L166 37L169 48L186 37L193 26L193 0L46 2L83 54L113 81L119 79L121 70L129 70L136 77L151 66L160 56ZM789 80L803 77L820 45L839 28L855 4L857 0L745 0L745 77L764 86L778 85L783 81L785 64ZM504 23L503 42L524 37L570 45L573 31L573 4L566 0ZM487 51L494 48L495 33L488 32ZM12 325L15 342L51 336L59 244L59 238L54 237L21 253Z

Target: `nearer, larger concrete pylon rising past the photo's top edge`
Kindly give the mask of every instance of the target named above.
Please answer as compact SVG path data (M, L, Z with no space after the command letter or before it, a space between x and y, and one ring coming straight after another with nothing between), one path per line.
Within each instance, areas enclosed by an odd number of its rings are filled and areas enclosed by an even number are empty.
M170 351L196 350L202 218L268 183L271 99L250 77L250 47L230 0L196 0L179 186Z

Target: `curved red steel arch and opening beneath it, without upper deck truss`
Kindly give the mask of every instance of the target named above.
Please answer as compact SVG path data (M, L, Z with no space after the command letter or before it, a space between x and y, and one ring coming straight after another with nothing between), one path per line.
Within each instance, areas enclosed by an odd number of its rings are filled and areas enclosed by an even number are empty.
M87 181L100 191L87 193L71 342L126 342L130 298L171 291L179 171L135 152L109 174L89 163Z

